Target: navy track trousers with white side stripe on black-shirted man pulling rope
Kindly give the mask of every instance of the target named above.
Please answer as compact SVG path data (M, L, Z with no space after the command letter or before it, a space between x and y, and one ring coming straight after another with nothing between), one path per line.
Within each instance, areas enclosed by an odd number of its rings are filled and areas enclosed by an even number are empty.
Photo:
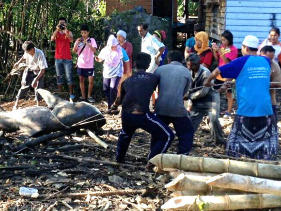
M152 135L148 159L157 154L167 152L174 134L156 115L152 113L131 114L122 113L122 130L117 142L117 162L123 162L134 132L141 128Z

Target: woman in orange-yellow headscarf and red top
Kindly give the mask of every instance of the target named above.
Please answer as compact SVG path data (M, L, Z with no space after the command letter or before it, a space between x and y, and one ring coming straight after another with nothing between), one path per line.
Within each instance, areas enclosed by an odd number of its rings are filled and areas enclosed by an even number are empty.
M200 64L209 68L212 64L213 52L209 47L209 36L206 32L198 32L195 35L195 46L191 52L196 52L200 56Z

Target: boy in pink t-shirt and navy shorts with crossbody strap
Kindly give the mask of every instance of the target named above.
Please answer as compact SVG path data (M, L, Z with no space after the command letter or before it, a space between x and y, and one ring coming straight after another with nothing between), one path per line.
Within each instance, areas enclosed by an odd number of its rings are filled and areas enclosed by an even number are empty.
M89 37L89 27L81 26L82 37L78 38L74 44L73 52L77 52L77 72L79 76L81 100L94 102L92 91L94 88L94 53L96 52L96 42L94 38ZM85 78L89 79L88 98L85 95Z

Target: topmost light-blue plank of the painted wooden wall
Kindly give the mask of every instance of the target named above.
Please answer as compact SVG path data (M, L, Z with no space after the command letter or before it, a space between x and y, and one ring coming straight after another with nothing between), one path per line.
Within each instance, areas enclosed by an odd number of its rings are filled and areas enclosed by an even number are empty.
M236 0L236 1L228 1L227 2L228 7L281 7L281 1L271 1L266 0L265 1L247 1L247 0Z

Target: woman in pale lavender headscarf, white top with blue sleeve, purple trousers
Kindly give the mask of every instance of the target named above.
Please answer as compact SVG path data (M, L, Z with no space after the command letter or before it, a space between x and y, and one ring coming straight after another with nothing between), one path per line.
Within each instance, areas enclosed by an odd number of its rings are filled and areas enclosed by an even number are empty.
M110 35L107 46L103 48L95 61L103 63L103 91L108 98L108 109L117 97L117 87L123 75L123 62L127 69L130 68L130 59L114 35Z

